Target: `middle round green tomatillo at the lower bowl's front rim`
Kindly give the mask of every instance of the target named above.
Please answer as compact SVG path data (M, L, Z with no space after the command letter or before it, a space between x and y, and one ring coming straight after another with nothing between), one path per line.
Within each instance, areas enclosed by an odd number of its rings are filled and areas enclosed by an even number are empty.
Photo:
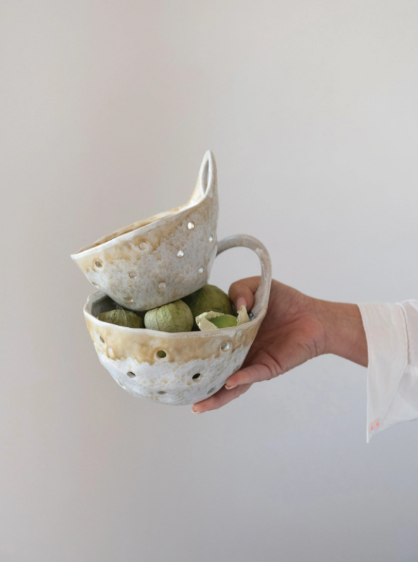
M189 332L193 327L193 314L182 300L153 308L145 314L145 327L161 332Z

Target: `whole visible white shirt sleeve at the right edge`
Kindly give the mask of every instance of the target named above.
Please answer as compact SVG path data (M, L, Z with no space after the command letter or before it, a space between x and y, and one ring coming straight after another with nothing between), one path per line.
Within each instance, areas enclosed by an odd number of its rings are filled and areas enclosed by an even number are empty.
M367 442L418 418L418 300L358 305L367 337Z

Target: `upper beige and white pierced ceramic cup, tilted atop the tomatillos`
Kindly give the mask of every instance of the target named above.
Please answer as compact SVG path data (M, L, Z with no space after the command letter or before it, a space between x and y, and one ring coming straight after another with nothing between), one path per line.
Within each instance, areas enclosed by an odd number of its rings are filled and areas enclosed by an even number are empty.
M149 310L208 282L217 250L217 174L205 153L189 203L126 226L71 257L118 304Z

